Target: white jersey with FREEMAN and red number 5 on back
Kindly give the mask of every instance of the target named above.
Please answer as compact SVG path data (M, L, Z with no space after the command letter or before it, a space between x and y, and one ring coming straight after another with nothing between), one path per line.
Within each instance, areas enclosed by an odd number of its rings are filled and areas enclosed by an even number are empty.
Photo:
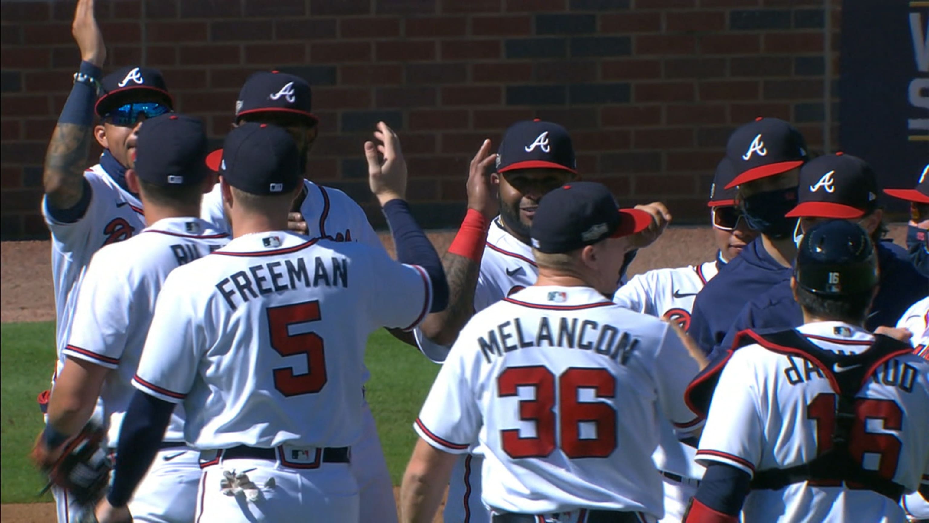
M242 235L168 275L133 384L183 403L197 449L349 446L368 335L430 306L425 271L383 248Z

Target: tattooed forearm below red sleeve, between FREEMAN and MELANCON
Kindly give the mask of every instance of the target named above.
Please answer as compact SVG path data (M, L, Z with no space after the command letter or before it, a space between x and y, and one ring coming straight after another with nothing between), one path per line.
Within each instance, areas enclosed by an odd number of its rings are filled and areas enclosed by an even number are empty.
M449 305L440 313L427 315L420 329L432 342L451 345L464 324L474 315L480 263L460 254L446 252L442 258L442 267L449 280Z

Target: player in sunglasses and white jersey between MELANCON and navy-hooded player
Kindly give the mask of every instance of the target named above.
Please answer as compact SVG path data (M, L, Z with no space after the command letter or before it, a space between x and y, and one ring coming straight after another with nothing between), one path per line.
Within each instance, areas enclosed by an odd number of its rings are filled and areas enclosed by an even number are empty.
M732 164L723 158L713 176L708 204L712 209L713 235L719 249L716 260L697 266L655 269L635 275L616 291L613 302L636 313L674 321L681 329L687 330L694 297L721 267L739 256L742 248L757 235L748 227L735 205L735 190L723 189L734 178ZM696 441L680 441L674 427L663 416L658 417L658 422L661 444L652 454L652 460L661 471L664 481L664 517L661 523L680 523L687 503L700 484L703 467L694 462Z

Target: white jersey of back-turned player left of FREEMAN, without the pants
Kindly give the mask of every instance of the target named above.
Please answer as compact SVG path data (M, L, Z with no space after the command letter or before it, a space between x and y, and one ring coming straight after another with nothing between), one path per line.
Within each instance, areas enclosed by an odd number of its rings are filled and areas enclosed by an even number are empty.
M168 273L229 243L199 218L165 218L138 235L101 248L87 266L71 338L64 355L111 372L100 392L109 445L116 447L129 406L138 359L149 332L155 299ZM165 441L184 440L184 411L175 409Z

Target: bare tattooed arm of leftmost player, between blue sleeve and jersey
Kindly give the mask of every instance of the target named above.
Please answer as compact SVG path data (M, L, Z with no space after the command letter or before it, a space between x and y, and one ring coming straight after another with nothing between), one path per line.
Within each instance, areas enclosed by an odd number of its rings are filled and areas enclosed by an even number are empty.
M43 182L56 208L72 208L81 199L90 137L91 127L76 124L59 124L52 133Z

